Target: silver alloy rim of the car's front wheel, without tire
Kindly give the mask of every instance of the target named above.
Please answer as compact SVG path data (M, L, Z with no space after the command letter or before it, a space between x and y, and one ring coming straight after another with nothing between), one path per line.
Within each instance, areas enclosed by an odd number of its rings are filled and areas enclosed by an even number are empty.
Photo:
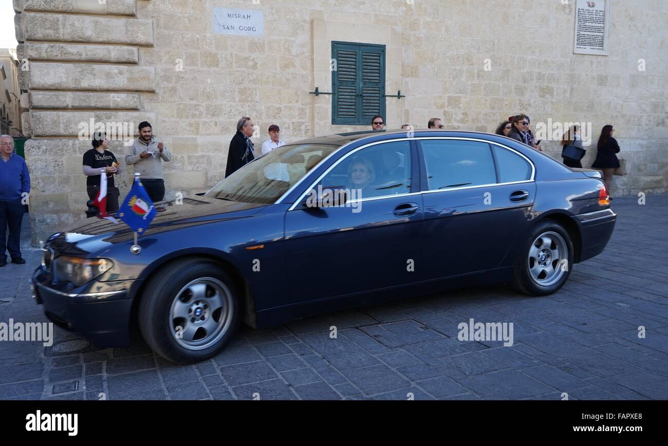
M172 337L188 350L204 350L224 336L232 323L234 302L216 278L192 280L176 293L169 313Z

